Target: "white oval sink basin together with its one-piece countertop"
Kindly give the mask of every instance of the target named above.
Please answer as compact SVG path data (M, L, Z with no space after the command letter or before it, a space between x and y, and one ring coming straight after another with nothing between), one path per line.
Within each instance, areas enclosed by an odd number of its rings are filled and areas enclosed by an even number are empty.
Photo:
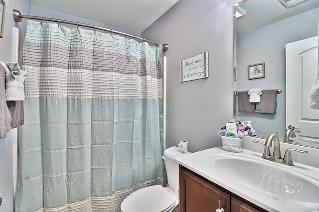
M215 147L174 159L266 211L319 211L318 167L296 161L288 166L261 156L262 152L233 153Z

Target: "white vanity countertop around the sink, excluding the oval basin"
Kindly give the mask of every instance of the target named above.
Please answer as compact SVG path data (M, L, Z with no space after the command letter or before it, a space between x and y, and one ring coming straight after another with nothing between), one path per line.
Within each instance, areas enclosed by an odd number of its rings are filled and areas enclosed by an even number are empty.
M233 153L223 150L221 147L202 150L192 154L174 158L180 165L199 174L200 176L216 183L217 185L227 189L228 191L248 200L249 202L270 212L319 212L319 203L304 203L292 200L286 200L276 197L265 192L256 191L252 188L241 184L238 181L232 180L225 176L222 172L214 169L213 161L207 161L207 155L210 154L230 154L236 156L245 156L253 160L261 160L262 162L273 163L274 166L279 166L280 169L290 169L313 179L319 183L319 169L317 167L303 165L295 162L295 166L288 166L261 158L262 154L243 149L242 152ZM225 155L227 157L227 155ZM270 164L272 165L272 164ZM317 185L317 184L316 184ZM318 184L319 185L319 184ZM319 196L319 194L318 194Z

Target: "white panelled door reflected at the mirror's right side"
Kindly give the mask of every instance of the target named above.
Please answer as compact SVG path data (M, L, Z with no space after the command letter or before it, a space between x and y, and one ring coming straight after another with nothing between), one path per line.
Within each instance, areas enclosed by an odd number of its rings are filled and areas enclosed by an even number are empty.
M319 145L319 110L309 108L309 96L318 72L318 36L286 44L286 127L294 125L296 141Z

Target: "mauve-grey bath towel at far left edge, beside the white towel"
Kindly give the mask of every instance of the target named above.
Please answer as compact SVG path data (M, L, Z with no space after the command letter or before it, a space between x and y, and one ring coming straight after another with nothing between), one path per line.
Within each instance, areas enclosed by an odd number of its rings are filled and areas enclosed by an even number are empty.
M11 115L5 101L5 68L0 65L0 138L10 131L12 127Z

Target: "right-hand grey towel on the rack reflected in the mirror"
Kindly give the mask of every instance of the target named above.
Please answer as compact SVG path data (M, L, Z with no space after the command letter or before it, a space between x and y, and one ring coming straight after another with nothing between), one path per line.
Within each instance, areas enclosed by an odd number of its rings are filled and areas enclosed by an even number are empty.
M263 90L260 98L260 103L256 104L256 112L276 114L277 107L277 91Z

